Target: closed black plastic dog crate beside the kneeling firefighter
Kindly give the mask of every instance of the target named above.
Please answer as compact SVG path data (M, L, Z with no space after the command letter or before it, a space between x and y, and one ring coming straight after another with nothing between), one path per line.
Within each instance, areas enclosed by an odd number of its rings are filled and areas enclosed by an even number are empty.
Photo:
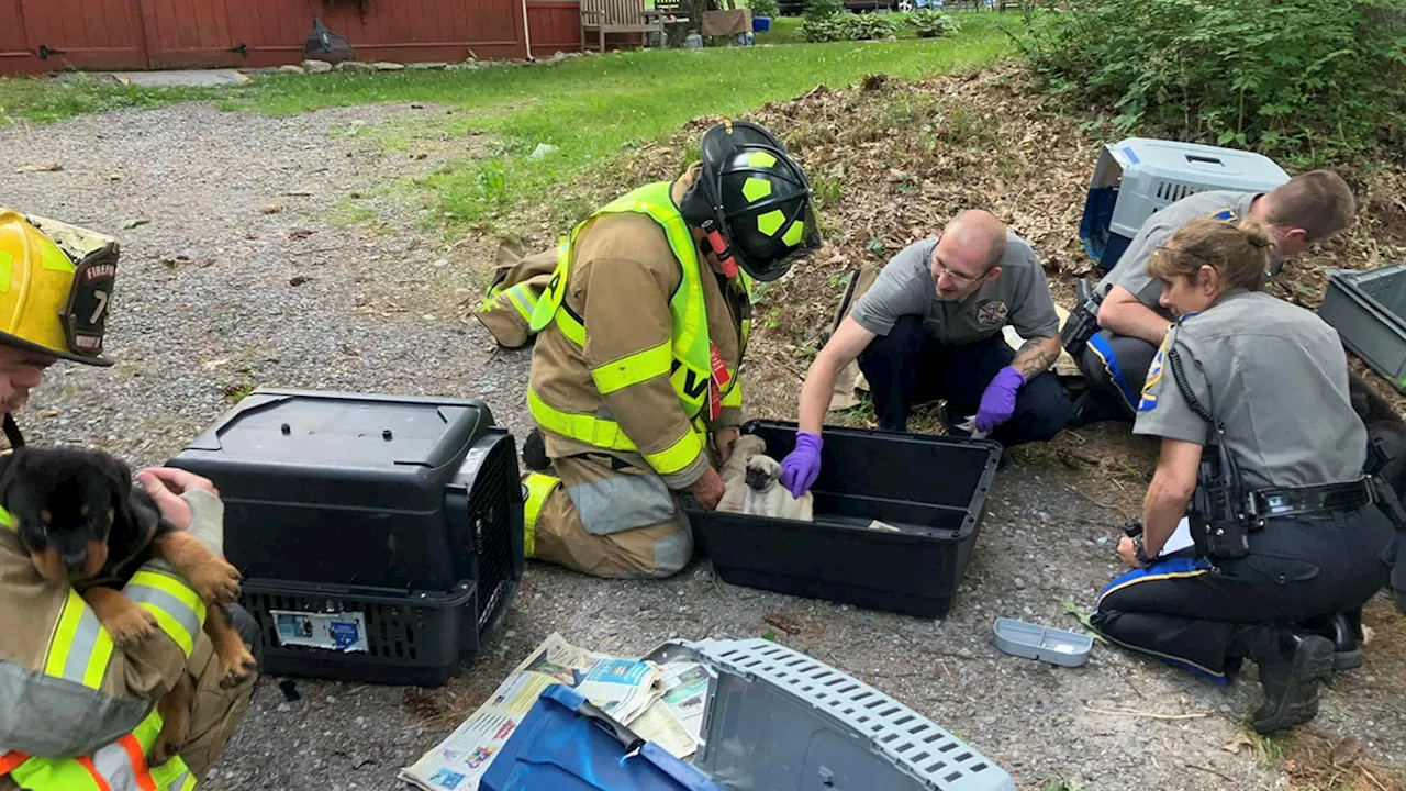
M257 390L170 466L219 488L267 673L443 684L522 578L517 450L478 400ZM363 639L292 645L274 611Z

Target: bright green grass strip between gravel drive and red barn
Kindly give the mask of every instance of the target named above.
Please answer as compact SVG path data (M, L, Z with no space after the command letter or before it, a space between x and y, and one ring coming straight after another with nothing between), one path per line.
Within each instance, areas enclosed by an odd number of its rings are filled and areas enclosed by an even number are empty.
M778 35L794 20L782 23ZM464 158L420 182L432 193L432 222L450 229L501 215L523 201L569 187L623 149L665 139L703 114L738 115L792 99L817 84L838 87L869 73L904 79L993 62L1007 46L994 21L973 21L957 37L897 44L797 44L638 51L578 58L555 66L499 66L461 72L330 73L254 79L246 86L183 91L56 80L0 80L0 117L56 121L80 113L214 99L270 114L373 103L423 103L453 111L439 121L447 139L489 134L491 156ZM396 120L423 127L423 117ZM537 144L558 148L533 158ZM681 156L690 152L681 152Z

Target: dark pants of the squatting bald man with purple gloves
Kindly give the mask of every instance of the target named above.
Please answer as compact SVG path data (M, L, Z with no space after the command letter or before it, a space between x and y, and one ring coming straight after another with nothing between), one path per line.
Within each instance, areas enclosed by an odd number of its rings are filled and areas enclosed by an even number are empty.
M879 428L907 431L914 404L946 398L948 419L960 424L976 414L981 393L1015 359L1015 350L995 334L963 346L943 346L928 336L922 318L905 315L889 335L875 338L859 355L869 380ZM1002 445L1043 442L1069 425L1073 405L1050 372L1021 387L1015 412L991 435Z

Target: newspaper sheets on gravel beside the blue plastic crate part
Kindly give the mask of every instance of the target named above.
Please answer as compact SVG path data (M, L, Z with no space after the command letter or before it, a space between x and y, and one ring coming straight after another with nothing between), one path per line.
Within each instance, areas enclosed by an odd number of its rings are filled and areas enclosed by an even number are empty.
M641 739L686 759L699 746L707 674L689 667L592 653L551 633L453 733L399 778L427 791L478 791L494 757L553 684L586 697ZM702 676L702 697L695 700Z

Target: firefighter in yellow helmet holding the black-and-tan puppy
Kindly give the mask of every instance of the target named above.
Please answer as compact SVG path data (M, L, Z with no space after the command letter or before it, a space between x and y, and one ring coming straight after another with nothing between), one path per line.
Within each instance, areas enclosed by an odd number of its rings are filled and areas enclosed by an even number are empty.
M11 412L44 369L59 359L111 365L101 352L117 249L105 236L84 243L94 236L0 210L0 407L13 448L24 439ZM224 507L208 480L169 469L138 479L167 521L219 550ZM163 563L143 566L122 591L156 616L159 631L115 645L67 581L41 576L18 528L0 508L0 791L193 788L247 709L254 677L219 687L201 632L205 605ZM257 657L253 619L231 611ZM156 704L183 673L195 685L188 740L177 757L152 766L162 729Z

